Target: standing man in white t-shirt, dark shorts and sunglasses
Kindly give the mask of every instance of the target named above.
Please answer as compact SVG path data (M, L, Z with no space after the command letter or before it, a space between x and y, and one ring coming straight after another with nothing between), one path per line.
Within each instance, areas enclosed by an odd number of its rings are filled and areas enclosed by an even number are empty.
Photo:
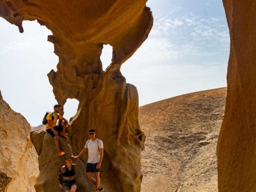
M84 152L88 149L88 163L86 166L86 178L95 185L95 191L104 191L104 188L100 186L100 166L103 159L103 142L97 139L95 129L89 131L90 140L86 141L83 150L81 150L78 156L74 156L73 159L83 156ZM92 177L92 173L95 175L95 179Z

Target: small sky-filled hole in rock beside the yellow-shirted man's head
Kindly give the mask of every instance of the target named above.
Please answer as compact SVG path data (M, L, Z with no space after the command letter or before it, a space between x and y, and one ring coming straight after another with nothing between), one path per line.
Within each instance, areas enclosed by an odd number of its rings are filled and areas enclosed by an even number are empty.
M77 113L77 108L79 101L77 99L67 99L67 102L64 105L64 118L67 118L69 121Z

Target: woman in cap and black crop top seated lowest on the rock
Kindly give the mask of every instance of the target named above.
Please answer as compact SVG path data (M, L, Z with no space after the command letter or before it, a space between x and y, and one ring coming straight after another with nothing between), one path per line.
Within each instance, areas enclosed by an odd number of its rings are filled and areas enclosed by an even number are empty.
M60 170L57 173L57 179L59 182L60 190L64 192L76 192L77 184L75 178L75 166L76 164L72 163L72 157L67 155L65 157L66 164L61 166ZM63 180L61 180L61 175Z

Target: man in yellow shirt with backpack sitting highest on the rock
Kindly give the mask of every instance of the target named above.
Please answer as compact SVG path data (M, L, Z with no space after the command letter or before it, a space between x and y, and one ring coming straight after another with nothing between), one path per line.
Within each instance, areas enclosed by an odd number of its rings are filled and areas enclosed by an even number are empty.
M47 124L45 124L46 131L49 134L51 134L52 138L54 139L54 144L55 144L55 147L58 151L58 156L63 156L65 154L65 152L62 152L60 150L59 136L62 135L62 136L65 136L66 138L67 138L67 136L66 136L65 132L61 132L61 133L58 132L58 131L60 131L60 125L56 126L56 122L57 122L58 119L60 119L60 120L62 120L61 126L67 127L68 120L63 118L61 115L58 114L58 113L60 113L61 105L56 104L56 105L54 105L53 109L54 109L54 111L50 112L46 117L46 119L47 119Z

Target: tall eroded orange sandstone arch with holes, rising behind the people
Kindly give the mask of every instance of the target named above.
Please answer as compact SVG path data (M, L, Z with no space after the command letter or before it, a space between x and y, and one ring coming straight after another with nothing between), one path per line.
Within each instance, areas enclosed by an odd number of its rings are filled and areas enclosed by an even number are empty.
M105 147L102 180L116 191L140 191L145 135L138 123L137 90L126 84L120 67L152 28L146 2L0 0L0 16L20 32L22 20L35 19L52 31L48 40L60 58L57 72L48 74L54 95L62 105L68 98L79 100L71 146L79 152L88 130L97 129ZM100 61L104 44L113 47L105 72Z

